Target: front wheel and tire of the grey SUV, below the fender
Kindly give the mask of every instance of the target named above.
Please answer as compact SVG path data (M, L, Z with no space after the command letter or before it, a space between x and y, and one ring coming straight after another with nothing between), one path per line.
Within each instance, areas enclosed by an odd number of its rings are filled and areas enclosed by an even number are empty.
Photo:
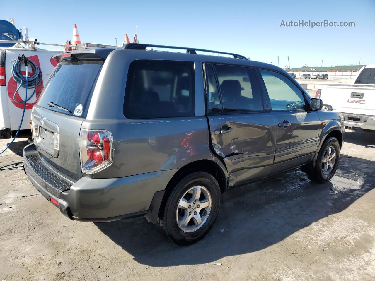
M323 143L317 161L315 162L315 166L307 169L306 175L311 181L318 183L327 182L335 175L339 165L339 160L339 141L335 137L331 137ZM305 169L303 171L305 172Z

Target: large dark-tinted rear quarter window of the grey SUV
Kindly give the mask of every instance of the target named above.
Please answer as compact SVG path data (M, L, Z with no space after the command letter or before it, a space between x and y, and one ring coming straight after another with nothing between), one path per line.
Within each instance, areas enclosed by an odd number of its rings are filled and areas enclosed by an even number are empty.
M127 75L124 115L130 119L194 116L193 62L136 60Z

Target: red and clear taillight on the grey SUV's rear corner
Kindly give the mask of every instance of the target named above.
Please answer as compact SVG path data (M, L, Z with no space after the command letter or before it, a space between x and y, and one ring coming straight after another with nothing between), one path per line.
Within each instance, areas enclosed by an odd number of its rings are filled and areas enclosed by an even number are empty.
M105 130L81 129L80 152L82 172L93 174L113 161L113 141Z

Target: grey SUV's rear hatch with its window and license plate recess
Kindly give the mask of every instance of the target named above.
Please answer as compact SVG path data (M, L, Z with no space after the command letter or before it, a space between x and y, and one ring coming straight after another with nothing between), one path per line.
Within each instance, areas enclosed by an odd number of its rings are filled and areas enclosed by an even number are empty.
M105 57L113 49L106 50L99 54L95 50L63 54L31 114L39 157L50 169L72 182L82 177L81 124Z

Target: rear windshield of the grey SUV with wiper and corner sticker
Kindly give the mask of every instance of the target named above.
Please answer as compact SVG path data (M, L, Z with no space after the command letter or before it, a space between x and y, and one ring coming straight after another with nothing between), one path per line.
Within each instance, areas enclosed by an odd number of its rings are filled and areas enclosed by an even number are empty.
M64 60L57 64L45 85L38 105L69 115L86 117L91 96L104 60ZM71 111L51 107L47 102Z

